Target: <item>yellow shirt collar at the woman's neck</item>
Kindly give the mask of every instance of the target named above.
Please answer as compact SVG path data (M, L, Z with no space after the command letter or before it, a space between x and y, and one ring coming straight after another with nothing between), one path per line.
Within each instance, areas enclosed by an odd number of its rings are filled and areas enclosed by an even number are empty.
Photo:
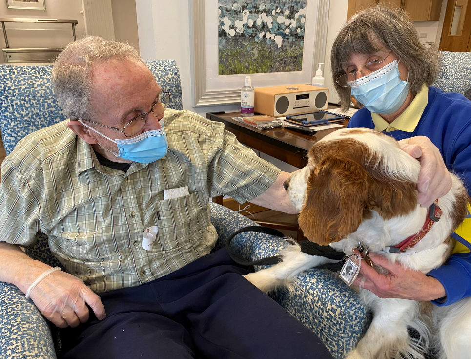
M390 132L396 129L404 132L413 132L417 124L419 123L422 113L424 112L427 103L429 102L429 88L426 85L422 86L420 92L415 95L409 106L401 113L394 121L390 124L386 122L377 113L371 112L371 118L373 119L374 129L379 132Z

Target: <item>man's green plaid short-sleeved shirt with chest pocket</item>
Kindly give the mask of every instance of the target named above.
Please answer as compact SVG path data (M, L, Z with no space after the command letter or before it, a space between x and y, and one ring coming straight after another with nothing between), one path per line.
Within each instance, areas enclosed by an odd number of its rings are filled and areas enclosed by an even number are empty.
M22 139L1 165L0 241L30 246L35 234L68 273L94 292L149 282L207 254L217 233L210 197L244 203L263 193L279 169L242 146L224 125L188 111L165 111L166 156L127 173L100 165L66 126ZM164 200L166 189L189 194ZM157 226L153 248L144 229Z

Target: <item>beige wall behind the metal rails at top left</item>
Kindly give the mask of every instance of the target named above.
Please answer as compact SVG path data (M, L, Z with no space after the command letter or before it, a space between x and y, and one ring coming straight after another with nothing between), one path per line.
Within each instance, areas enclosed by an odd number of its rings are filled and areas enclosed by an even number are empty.
M6 1L0 0L0 18L75 19L77 39L85 35L82 0L45 0L46 10L7 9ZM73 40L70 24L7 23L8 42L14 47L65 47ZM21 29L21 30L16 30ZM43 30L39 30L43 29ZM0 36L1 48L5 48ZM0 56L3 62L3 54Z

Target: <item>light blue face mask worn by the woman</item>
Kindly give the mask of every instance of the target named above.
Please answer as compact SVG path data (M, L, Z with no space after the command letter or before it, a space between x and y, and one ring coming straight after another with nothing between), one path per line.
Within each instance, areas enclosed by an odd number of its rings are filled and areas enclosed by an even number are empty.
M404 104L409 83L399 77L397 60L356 81L348 81L351 94L370 112L390 115ZM409 75L408 75L409 77Z

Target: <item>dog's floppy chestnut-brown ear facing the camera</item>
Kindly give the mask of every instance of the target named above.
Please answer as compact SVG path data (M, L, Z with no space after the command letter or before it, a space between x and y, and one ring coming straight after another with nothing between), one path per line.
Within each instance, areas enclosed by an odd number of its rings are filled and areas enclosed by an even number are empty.
M306 204L299 214L304 235L326 245L355 232L370 207L372 182L358 163L324 158L307 181Z

